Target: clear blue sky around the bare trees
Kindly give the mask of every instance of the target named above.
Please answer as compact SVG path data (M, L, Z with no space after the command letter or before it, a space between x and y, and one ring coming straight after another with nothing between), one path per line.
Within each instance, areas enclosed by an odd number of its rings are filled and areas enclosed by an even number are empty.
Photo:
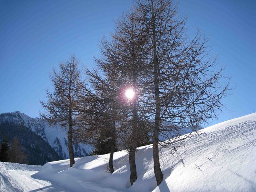
M0 113L37 117L50 88L49 73L72 53L88 66L113 21L132 0L1 0ZM211 38L212 54L227 66L235 89L223 100L219 123L256 112L256 1L180 0L187 26Z

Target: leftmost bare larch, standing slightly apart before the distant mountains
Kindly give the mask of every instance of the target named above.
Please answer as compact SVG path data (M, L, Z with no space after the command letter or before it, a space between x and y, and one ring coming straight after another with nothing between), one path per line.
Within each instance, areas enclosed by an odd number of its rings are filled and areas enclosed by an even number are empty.
M51 93L46 91L47 102L41 101L45 113L40 113L50 125L54 126L59 123L63 128L68 126L68 152L70 157L70 167L75 163L73 153L73 129L77 125L79 115L79 102L83 82L80 79L80 71L78 70L78 60L75 55L70 56L70 60L60 63L60 71L53 69L50 75L54 91Z

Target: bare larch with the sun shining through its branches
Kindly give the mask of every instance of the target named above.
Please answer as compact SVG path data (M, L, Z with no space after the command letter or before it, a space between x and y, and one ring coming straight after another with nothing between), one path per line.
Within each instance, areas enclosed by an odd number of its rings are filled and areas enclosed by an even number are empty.
M103 56L97 60L99 68L107 77L111 77L111 81L119 89L118 102L126 108L123 125L131 126L131 129L127 129L131 131L128 141L131 185L137 179L135 153L139 140L138 133L141 133L138 123L142 121L141 116L143 116L140 111L139 97L143 93L141 82L143 82L146 67L144 55L147 52L146 29L138 23L137 17L136 12L131 10L118 19L111 40L102 40ZM127 89L134 91L134 97L125 98Z

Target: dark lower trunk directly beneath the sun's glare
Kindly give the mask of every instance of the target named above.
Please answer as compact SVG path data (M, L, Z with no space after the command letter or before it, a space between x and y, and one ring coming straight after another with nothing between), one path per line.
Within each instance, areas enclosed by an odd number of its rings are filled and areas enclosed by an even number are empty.
M136 170L136 164L135 164L135 152L136 152L136 146L137 146L137 106L136 101L133 106L133 121L132 121L132 133L131 133L131 144L129 149L129 163L130 163L130 182L131 185L136 181L137 179L137 170Z

